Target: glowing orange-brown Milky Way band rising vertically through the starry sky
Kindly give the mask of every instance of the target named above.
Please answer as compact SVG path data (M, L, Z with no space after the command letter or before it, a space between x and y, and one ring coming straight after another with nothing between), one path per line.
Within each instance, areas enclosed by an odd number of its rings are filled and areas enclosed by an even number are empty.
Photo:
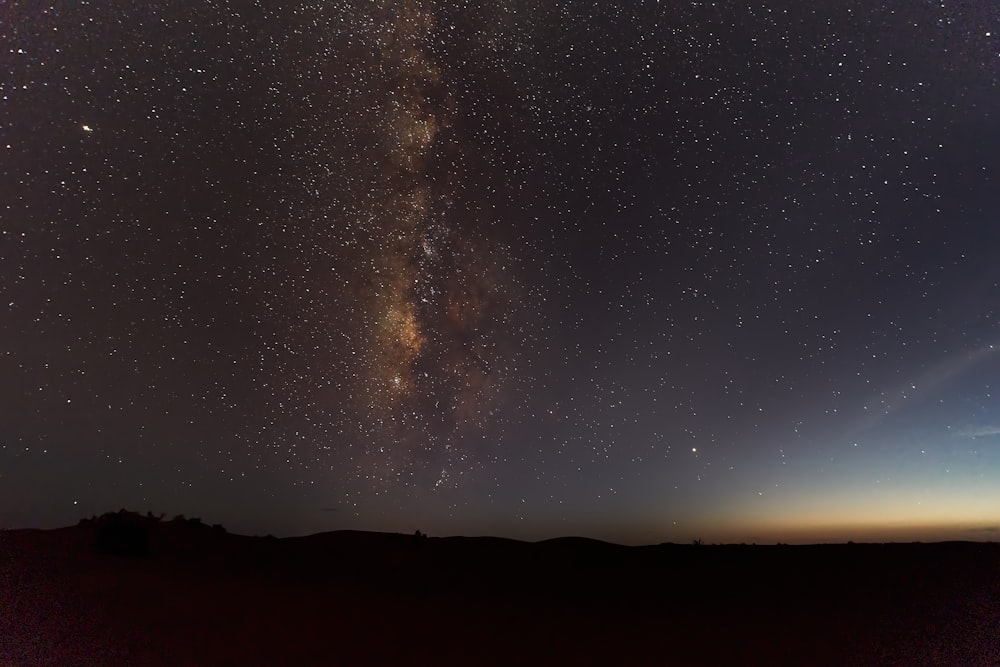
M467 437L489 423L512 373L513 267L490 231L495 216L470 208L476 194L464 190L475 167L452 126L453 84L431 53L430 7L373 10L372 141L356 156L372 172L366 196L332 223L365 236L351 254L363 309L350 332L360 347L349 367L351 436L377 443L363 459L368 474L427 465L441 484L468 458Z

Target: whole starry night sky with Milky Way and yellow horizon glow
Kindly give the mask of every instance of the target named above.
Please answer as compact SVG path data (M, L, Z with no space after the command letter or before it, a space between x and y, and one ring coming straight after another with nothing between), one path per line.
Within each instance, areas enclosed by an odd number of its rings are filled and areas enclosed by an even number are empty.
M0 527L1000 538L992 0L7 0L0 73Z

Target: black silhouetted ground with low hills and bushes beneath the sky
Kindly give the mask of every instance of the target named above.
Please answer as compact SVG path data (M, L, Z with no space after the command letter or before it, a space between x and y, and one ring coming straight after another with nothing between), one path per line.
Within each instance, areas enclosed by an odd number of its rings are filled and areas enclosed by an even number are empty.
M0 533L0 667L1000 665L997 544L102 530Z

